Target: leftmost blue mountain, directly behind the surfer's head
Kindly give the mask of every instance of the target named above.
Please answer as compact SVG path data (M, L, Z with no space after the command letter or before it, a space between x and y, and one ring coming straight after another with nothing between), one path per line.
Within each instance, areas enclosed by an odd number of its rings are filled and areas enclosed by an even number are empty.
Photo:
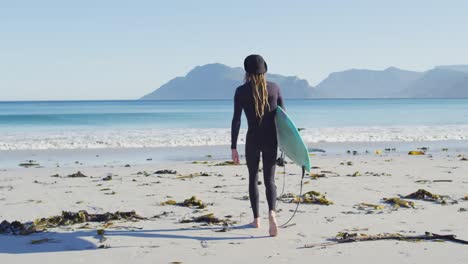
M244 70L214 63L197 66L184 77L177 77L143 96L142 100L231 99L243 83ZM297 77L268 74L285 98L312 98L314 88Z

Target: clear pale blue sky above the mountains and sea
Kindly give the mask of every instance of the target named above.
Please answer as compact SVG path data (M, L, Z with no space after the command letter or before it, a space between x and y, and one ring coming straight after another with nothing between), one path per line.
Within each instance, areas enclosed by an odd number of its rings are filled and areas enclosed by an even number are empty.
M349 68L468 64L468 1L1 1L0 101L135 99L194 66L316 85Z

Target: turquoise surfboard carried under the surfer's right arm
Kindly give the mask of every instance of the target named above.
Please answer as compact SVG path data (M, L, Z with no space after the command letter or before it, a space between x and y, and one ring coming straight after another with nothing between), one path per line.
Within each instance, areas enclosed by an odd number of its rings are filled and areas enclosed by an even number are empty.
M296 125L280 106L276 108L275 118L280 150L294 163L310 172L309 151Z

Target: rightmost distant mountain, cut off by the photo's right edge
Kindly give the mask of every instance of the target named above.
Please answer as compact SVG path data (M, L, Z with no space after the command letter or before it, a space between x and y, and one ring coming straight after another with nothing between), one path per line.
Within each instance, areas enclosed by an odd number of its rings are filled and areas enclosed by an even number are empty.
M468 98L468 72L436 67L424 73L405 91L416 98Z

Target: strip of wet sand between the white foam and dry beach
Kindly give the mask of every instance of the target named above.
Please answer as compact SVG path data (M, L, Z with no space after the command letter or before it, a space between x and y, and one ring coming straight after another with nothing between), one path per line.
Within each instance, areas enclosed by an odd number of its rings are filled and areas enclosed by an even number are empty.
M346 154L347 150L359 154L373 154L376 150L394 148L396 153L404 154L410 150L427 147L430 153L468 151L468 140L446 141L388 141L388 142L318 142L307 144L311 153L336 156ZM238 145L239 154L244 155L244 145ZM323 150L324 153L314 152ZM48 150L0 150L0 169L19 168L18 164L34 160L41 166L73 167L125 165L125 164L162 164L165 162L192 162L201 160L230 160L229 145L186 146L186 147L149 147L149 148L98 148L98 149L48 149Z

